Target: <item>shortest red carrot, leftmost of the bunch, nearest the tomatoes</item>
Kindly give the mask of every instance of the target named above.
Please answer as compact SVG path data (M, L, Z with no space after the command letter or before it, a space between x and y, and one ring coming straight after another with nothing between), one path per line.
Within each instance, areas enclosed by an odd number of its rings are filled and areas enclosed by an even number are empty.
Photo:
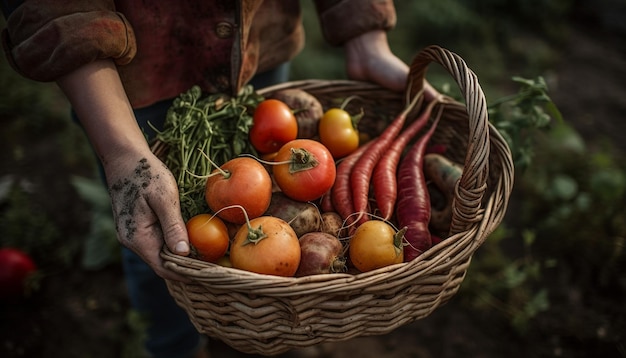
M367 142L361 145L357 150L344 157L337 165L337 174L335 175L335 184L331 188L331 200L337 214L343 220L349 222L349 218L354 213L352 205L352 191L350 191L350 173L352 167L359 160L361 155L370 147L373 142Z

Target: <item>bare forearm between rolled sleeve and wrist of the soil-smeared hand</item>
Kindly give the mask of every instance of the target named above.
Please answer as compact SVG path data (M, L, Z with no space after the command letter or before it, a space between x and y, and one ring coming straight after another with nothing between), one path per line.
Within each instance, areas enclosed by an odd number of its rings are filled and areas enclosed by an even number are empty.
M57 83L105 167L124 154L149 150L112 61L89 63Z

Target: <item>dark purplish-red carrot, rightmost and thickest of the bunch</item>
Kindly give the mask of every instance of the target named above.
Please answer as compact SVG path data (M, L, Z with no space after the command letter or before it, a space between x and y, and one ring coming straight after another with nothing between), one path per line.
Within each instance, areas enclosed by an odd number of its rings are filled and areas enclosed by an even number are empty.
M441 112L435 118L432 126L406 153L398 169L398 202L396 219L399 227L406 227L405 239L408 245L404 246L404 260L411 261L432 246L432 239L428 231L430 221L430 196L423 172L424 152L432 137Z

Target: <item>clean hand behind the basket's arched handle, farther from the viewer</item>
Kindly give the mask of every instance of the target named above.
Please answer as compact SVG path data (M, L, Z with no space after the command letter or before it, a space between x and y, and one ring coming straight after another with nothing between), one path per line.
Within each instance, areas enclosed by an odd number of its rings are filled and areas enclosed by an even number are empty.
M409 66L391 52L383 30L355 37L346 42L344 48L350 79L373 82L397 92L405 89ZM436 94L428 81L424 81L424 98L429 101Z

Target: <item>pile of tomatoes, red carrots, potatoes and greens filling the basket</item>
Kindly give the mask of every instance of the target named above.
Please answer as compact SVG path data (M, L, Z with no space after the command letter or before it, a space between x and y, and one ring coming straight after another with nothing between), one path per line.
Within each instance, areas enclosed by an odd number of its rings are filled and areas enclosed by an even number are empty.
M358 273L415 259L431 232L445 239L462 167L426 159L451 100L424 104L419 93L371 140L358 131L367 113L348 113L349 100L324 108L303 90L264 98L251 87L181 94L157 139L194 258L286 277ZM432 208L431 195L441 199Z

